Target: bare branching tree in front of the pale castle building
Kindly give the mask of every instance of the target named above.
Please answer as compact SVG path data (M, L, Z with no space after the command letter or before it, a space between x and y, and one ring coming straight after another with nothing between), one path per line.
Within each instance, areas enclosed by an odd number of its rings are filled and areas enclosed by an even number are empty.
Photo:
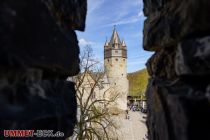
M81 55L81 73L74 77L78 104L78 123L73 139L111 139L116 136L116 124L110 108L119 93L104 83L105 73L93 59L90 46ZM110 134L112 132L112 134Z

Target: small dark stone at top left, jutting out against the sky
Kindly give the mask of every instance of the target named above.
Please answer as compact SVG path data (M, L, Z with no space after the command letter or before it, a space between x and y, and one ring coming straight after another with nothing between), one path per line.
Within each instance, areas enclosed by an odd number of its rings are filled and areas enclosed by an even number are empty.
M87 0L43 0L58 25L64 29L84 31Z

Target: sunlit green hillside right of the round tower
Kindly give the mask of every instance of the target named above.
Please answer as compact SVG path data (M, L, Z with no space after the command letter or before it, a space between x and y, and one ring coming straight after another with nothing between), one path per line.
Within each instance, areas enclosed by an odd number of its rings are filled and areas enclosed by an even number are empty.
M149 75L146 69L128 74L129 96L140 96L145 93Z

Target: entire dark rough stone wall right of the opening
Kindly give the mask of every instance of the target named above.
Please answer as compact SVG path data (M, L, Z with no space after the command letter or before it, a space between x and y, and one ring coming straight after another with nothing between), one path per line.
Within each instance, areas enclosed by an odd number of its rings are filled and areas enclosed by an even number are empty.
M150 140L210 139L210 1L144 0Z

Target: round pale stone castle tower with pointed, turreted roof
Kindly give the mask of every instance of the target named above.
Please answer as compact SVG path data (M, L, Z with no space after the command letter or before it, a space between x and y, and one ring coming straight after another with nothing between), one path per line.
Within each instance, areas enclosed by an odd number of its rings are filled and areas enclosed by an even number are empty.
M117 101L120 109L127 109L128 79L127 79L127 47L120 40L114 28L110 41L104 45L104 68L112 87L120 93Z

